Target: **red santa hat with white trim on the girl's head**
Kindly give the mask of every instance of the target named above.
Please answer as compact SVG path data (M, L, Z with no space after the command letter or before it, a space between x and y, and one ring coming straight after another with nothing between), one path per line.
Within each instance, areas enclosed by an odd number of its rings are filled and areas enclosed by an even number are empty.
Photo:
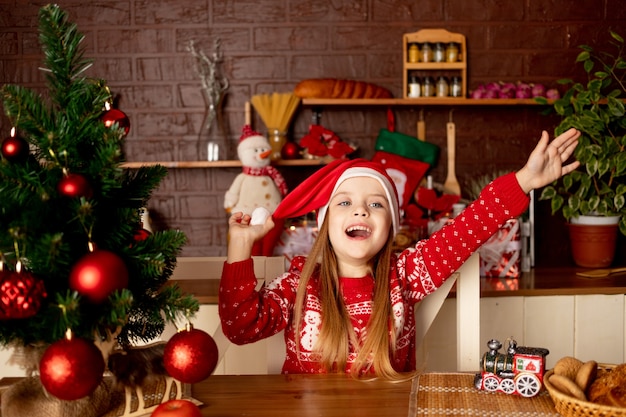
M321 227L331 197L342 182L354 177L374 178L382 185L387 201L389 201L393 231L396 234L400 226L396 187L381 164L366 159L347 161L336 159L330 162L287 194L272 216L276 219L287 219L303 216L317 210L317 225Z

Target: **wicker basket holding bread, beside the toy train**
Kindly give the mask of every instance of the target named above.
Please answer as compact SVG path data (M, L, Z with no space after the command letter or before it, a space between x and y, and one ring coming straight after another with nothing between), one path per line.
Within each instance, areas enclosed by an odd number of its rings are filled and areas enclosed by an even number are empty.
M615 365L598 365L598 369L610 370L614 367ZM552 401L554 401L556 411L561 415L565 417L626 417L626 408L582 401L559 391L550 384L550 375L553 373L553 370L546 372L543 376L543 384L550 393Z

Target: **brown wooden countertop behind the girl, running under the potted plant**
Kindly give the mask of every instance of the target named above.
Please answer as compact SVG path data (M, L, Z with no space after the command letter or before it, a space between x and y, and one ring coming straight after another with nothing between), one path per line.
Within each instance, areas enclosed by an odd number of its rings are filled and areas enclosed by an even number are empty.
M626 272L605 278L576 275L582 268L538 268L516 278L484 278L481 297L532 297L545 295L626 294ZM175 282L202 304L216 304L218 279L177 279ZM450 296L454 296L454 291Z

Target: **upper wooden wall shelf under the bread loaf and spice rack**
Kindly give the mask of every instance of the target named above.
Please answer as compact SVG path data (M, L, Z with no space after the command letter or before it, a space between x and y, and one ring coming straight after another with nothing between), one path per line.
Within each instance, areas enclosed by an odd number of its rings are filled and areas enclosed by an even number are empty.
M548 100L548 104L554 100ZM534 98L419 97L386 99L305 98L304 106L541 106Z

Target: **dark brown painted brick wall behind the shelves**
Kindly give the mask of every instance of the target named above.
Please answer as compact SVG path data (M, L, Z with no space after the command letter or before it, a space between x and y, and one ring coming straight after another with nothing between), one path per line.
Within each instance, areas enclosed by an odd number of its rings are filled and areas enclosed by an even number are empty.
M36 4L33 4L36 3ZM37 10L44 2L0 2L0 83L41 88ZM301 79L352 78L375 82L401 96L402 35L443 27L467 37L469 86L488 81L555 85L580 77L577 45L607 41L607 29L622 30L621 0L109 0L59 2L85 33L90 75L119 94L131 119L125 152L129 161L196 160L204 102L186 47L194 40L206 52L221 40L231 86L225 103L230 135L223 154L234 158L250 96L289 91ZM626 35L626 33L622 33ZM386 124L384 108L325 109L321 123L359 145L370 157ZM424 111L427 139L445 144L451 108L394 109L397 130L414 134ZM542 129L557 120L537 107L457 107L457 176L472 178L521 166ZM312 118L301 108L291 136L300 138ZM10 125L0 120L0 132ZM255 117L254 125L263 129ZM432 170L445 178L443 162ZM157 227L180 228L189 237L184 255L225 254L225 190L238 169L172 169L150 202ZM295 185L306 169L283 173ZM542 213L540 207L540 215ZM562 225L548 215L539 228L539 263L567 262ZM539 221L542 221L540 218ZM558 222L557 222L558 223Z

